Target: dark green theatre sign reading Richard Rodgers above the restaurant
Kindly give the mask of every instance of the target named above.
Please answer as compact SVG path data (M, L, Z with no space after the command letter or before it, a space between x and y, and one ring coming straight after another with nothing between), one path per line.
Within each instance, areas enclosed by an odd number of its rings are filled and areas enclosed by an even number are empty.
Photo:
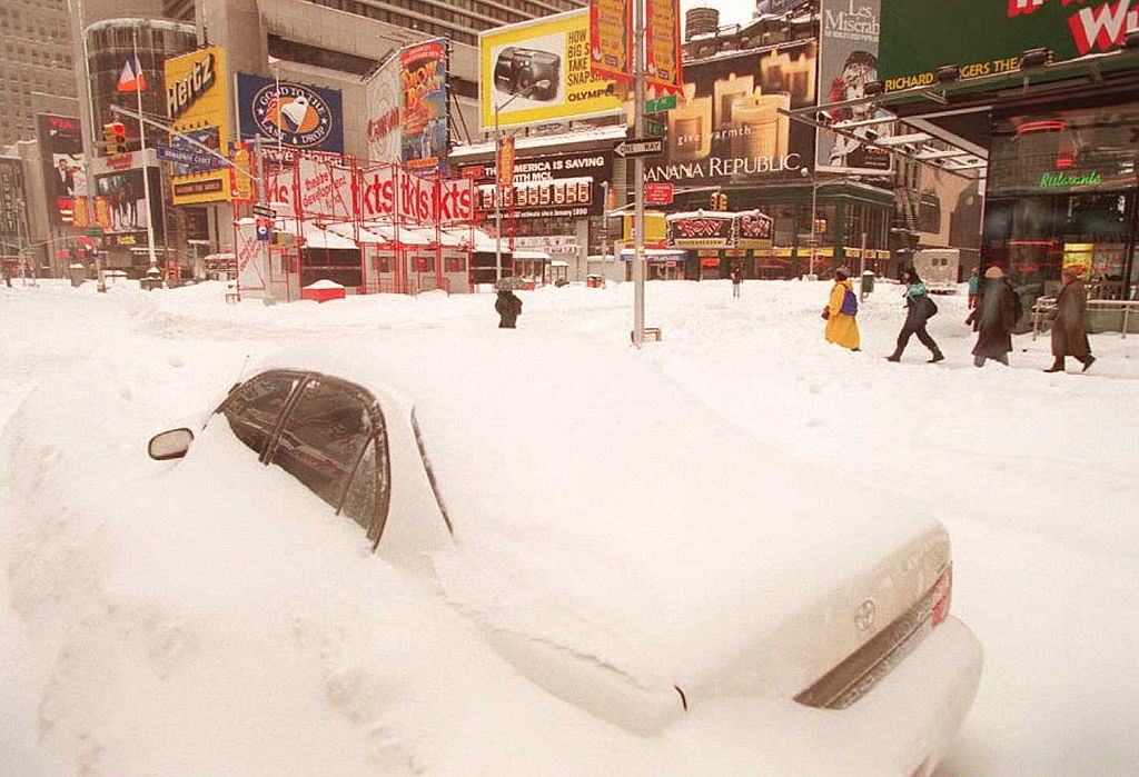
M928 86L943 65L962 81L1016 77L1029 49L1052 61L1111 51L1137 20L1139 0L882 0L878 73L887 92Z

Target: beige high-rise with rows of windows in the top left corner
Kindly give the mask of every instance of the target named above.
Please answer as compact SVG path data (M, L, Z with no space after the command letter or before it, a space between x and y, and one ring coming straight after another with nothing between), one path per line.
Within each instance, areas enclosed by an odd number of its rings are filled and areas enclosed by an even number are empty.
M32 94L75 97L66 0L0 2L0 146L35 138Z

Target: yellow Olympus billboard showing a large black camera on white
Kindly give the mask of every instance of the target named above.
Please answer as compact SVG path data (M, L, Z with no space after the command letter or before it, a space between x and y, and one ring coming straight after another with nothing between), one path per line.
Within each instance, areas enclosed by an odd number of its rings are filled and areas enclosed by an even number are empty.
M590 72L589 9L478 33L483 131L620 113L614 83ZM509 104L509 106L507 105Z

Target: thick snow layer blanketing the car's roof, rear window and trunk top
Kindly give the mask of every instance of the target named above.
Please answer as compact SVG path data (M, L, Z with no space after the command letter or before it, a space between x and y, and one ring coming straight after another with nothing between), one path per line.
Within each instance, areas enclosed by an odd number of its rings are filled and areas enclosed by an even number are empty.
M648 353L516 330L377 332L264 366L413 406L461 546L436 561L448 595L644 681L715 671L935 526L820 479Z

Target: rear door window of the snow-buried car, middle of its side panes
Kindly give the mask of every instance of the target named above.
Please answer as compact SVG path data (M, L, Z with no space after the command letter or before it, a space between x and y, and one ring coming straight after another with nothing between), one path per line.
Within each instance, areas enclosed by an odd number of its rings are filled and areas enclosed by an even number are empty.
M362 390L326 378L301 389L281 427L272 463L339 509L372 433Z

